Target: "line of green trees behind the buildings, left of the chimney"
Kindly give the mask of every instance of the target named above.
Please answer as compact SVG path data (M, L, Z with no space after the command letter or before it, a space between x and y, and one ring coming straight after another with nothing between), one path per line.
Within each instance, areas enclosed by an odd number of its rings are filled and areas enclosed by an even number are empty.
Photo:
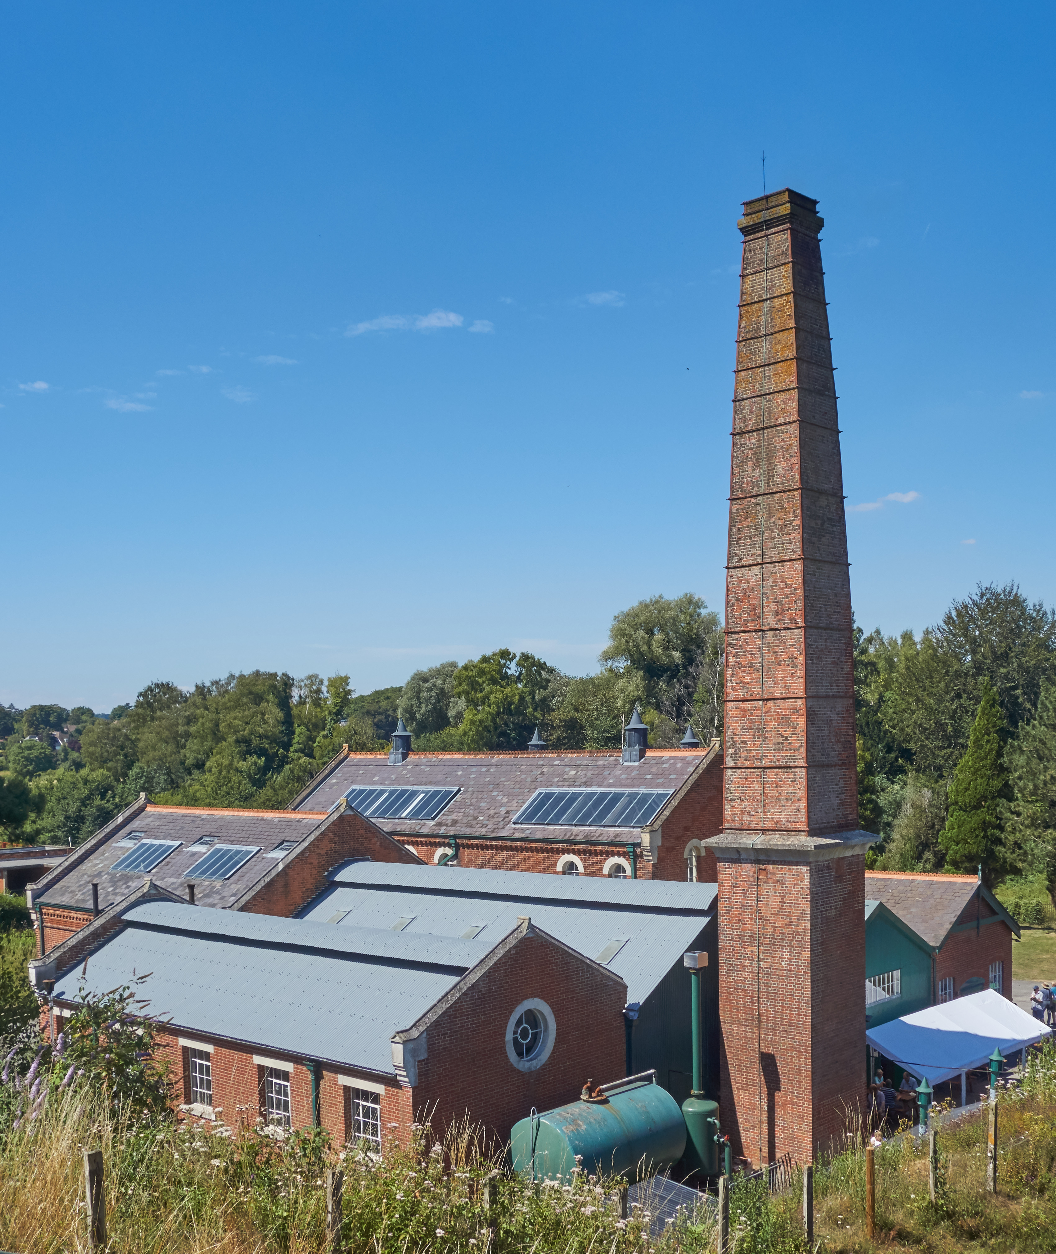
M169 805L281 809L347 744L388 749L403 717L419 750L615 749L635 705L656 745L692 721L721 734L722 632L691 593L613 618L596 675L499 648L357 695L347 675L252 671L186 691L157 681L109 714L0 707L0 838L75 845L147 793Z

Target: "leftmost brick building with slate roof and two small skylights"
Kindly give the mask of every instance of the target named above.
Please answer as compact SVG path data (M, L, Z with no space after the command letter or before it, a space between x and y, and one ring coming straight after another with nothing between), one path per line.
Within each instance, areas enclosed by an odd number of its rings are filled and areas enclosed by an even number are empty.
M149 875L198 905L296 914L350 858L418 858L344 803L331 813L152 805L145 794L26 893L44 954Z

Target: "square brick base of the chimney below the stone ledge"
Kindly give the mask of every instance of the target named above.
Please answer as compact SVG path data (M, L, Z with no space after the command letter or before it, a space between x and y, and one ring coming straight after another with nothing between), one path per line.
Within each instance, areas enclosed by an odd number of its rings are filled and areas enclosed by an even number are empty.
M720 1110L754 1166L810 1162L864 1100L864 861L720 856Z

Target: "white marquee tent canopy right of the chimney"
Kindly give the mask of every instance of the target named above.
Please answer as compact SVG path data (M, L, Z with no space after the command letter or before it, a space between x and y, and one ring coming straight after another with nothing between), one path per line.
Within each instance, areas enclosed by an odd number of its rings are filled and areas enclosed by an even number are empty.
M880 1023L865 1040L885 1058L934 1086L961 1076L963 1101L966 1071L985 1067L995 1048L1007 1057L1050 1036L1032 1014L987 988L942 1006Z

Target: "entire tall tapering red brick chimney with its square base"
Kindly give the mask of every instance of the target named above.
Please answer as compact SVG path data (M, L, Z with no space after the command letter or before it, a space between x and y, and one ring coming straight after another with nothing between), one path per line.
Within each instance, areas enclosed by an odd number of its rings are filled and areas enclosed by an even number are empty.
M865 1095L865 848L850 582L816 201L746 201L719 880L721 1117L810 1162Z

